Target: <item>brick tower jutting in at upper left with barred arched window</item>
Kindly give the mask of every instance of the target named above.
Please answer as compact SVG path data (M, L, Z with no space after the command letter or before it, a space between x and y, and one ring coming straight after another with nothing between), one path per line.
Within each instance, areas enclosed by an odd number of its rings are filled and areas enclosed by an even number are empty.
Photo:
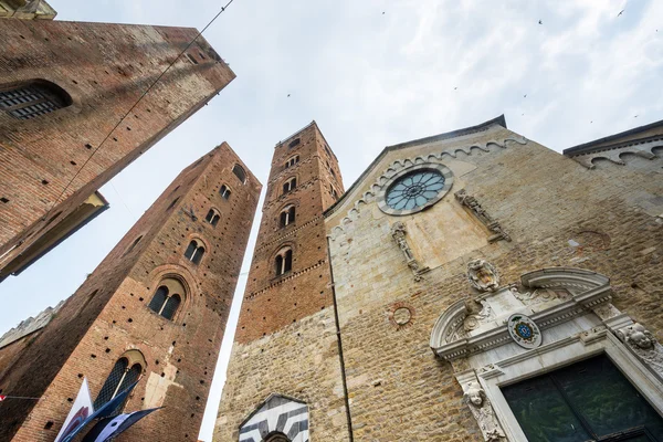
M0 20L0 280L105 209L96 191L234 78L202 38L179 56L197 34Z

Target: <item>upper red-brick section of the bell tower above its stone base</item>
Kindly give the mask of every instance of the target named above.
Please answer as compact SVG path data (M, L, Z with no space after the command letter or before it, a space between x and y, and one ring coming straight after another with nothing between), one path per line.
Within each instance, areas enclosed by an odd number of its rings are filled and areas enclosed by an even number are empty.
M236 341L333 304L323 212L343 191L338 161L315 122L275 146Z

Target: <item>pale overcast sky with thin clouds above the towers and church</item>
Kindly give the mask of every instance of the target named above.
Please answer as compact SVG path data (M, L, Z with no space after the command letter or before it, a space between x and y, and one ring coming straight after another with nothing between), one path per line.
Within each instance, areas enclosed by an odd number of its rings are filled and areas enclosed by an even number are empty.
M198 29L221 7L49 1L57 20ZM315 119L348 188L387 145L501 114L558 151L663 119L660 0L235 0L204 36L238 77L101 189L110 210L0 284L0 334L74 293L177 173L224 140L264 183L274 145ZM208 442L245 278L200 435Z

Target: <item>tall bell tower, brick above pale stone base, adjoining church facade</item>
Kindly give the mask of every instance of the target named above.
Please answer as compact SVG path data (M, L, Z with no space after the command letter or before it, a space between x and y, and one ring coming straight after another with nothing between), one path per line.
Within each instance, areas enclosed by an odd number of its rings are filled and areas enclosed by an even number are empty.
M344 431L343 398L328 394L341 373L323 219L343 192L315 122L275 146L214 441L307 441L309 415L315 440L332 420Z

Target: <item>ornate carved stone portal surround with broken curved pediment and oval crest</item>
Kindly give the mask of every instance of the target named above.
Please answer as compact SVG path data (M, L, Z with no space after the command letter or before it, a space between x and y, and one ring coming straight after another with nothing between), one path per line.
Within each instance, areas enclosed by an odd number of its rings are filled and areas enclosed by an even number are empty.
M610 303L608 277L554 267L501 286L493 265L473 260L467 278L478 294L457 301L440 316L430 345L451 364L484 440L526 440L502 386L601 352L663 412L663 347ZM540 329L543 343L532 349L516 344L507 328L514 317L527 317L533 329Z

